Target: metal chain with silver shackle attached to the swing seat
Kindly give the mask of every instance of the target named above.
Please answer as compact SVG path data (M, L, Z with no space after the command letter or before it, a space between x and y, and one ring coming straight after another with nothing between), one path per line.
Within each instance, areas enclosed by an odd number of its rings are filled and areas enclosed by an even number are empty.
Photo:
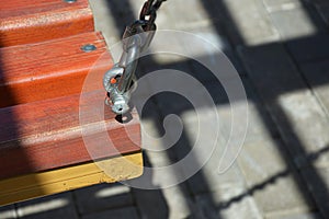
M134 87L139 54L150 45L157 25L157 11L166 0L148 0L144 3L139 20L126 27L123 35L123 54L118 64L104 74L103 85L107 92L105 103L115 114L129 111L128 102ZM136 83L135 83L136 85Z

